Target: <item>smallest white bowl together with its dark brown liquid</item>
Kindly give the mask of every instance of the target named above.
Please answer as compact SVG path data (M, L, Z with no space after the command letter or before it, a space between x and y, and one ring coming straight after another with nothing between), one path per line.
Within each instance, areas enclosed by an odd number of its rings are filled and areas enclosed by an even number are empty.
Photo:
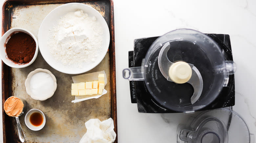
M31 109L25 116L25 124L32 131L39 131L45 126L44 112L38 109Z

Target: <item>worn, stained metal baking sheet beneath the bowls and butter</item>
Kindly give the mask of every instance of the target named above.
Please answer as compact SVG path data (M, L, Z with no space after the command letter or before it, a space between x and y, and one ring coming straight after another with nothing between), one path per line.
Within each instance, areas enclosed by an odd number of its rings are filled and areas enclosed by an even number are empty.
M38 1L41 2L41 1ZM64 3L63 3L64 4ZM109 11L106 1L95 1L95 2L86 2L98 10L100 14L105 18L108 26L110 26L109 14L106 14L106 11ZM25 28L31 31L36 37L41 22L44 17L54 8L60 6L61 4L38 4L38 5L21 5L10 7L10 28L20 27ZM3 24L3 26L6 24ZM4 28L3 28L4 29ZM113 39L112 39L113 40ZM111 44L110 44L111 45ZM113 51L112 51L113 52ZM113 116L113 99L111 99L111 94L113 95L113 87L115 88L115 83L113 84L113 72L111 71L110 58L113 60L112 53L107 52L106 56L102 62L96 66L94 69L85 72L91 73L95 71L105 71L107 75L107 84L105 89L108 91L106 95L101 96L98 99L90 99L87 101L82 101L79 103L72 103L74 96L71 96L71 83L72 76L71 74L64 74L59 71L54 70L50 67L40 52L34 63L32 65L22 68L5 68L3 71L10 71L9 73L9 95L3 94L3 97L7 96L17 96L24 98L27 101L27 111L32 108L37 108L42 110L46 115L46 125L40 131L31 131L28 129L24 122L25 114L20 116L21 126L25 133L26 142L65 142L65 143L75 143L79 142L81 137L86 133L86 128L84 123L92 118L98 118L100 120L105 120ZM57 89L50 99L46 101L36 101L33 100L27 93L25 89L25 80L29 72L37 69L48 69L51 71L57 80ZM110 70L111 69L111 70ZM115 69L115 68L114 68ZM84 73L83 73L84 74ZM3 74L7 75L7 74ZM78 74L79 75L79 74ZM5 77L3 77L5 78ZM112 83L112 84L111 84ZM7 85L5 85L7 86ZM3 87L5 88L5 87ZM5 89L6 90L6 89ZM3 91L5 91L3 90ZM6 93L7 94L7 93ZM3 112L4 113L4 112ZM25 112L26 113L26 112ZM114 114L116 115L116 114ZM13 118L3 117L3 122L5 120L11 120L11 128L14 128L13 137L14 141L19 141L18 135L16 132L16 122ZM115 122L115 119L114 119ZM10 127L8 127L10 128ZM116 127L115 127L116 128ZM5 132L5 131L4 131ZM10 142L10 133L4 133L6 135L4 140ZM115 141L117 142L117 141Z

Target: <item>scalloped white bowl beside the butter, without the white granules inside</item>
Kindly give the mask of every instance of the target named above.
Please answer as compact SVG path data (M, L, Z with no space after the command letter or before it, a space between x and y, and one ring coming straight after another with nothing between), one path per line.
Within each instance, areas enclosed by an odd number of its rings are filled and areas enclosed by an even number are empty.
M39 95L36 95L34 94L31 89L30 89L30 80L31 80L31 77L37 73L37 72L46 72L48 74L50 74L50 76L53 78L53 82L54 82L54 87L53 87L53 91L49 91L49 94L44 94L44 96L39 96ZM57 89L57 82L56 82L56 78L55 76L52 74L51 71L49 70L46 70L46 69L35 69L34 71L31 71L29 74L28 74L28 77L25 81L25 87L26 87L26 91L27 93L31 96L31 98L33 98L34 100L40 100L40 101L44 101L50 97L53 96L54 92L56 91Z

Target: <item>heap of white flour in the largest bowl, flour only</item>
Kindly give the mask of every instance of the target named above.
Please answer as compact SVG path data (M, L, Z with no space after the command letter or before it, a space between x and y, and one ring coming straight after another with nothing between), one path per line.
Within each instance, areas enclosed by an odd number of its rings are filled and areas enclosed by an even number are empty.
M103 28L96 17L77 10L62 16L49 30L48 46L55 60L82 68L81 63L96 60L101 51L102 35Z

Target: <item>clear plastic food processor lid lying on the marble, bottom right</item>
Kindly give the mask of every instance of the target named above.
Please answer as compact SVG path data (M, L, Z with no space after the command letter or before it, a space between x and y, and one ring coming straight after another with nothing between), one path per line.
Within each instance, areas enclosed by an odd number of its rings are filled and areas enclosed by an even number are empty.
M253 143L245 120L236 112L222 108L209 110L195 118L180 132L184 143Z

